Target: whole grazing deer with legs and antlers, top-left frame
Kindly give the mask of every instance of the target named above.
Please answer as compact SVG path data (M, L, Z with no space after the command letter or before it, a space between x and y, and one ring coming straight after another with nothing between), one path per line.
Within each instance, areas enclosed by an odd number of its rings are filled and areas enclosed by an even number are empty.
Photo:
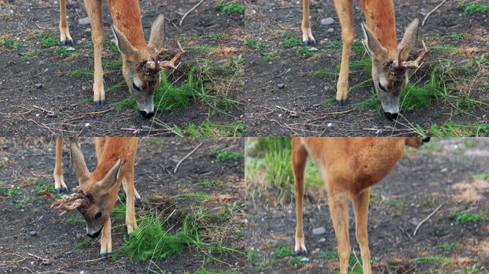
M89 16L91 38L93 42L94 73L93 73L93 102L104 105L104 72L102 69L102 46L104 44L104 25L102 22L102 1L84 0ZM176 70L177 62L183 50L177 40L179 52L172 60L159 61L158 56L164 51L165 17L159 14L152 23L151 34L146 44L141 23L141 12L137 0L107 0L113 21L112 31L115 43L122 55L122 75L126 80L130 95L137 103L139 114L146 119L155 115L153 95L161 82L161 70ZM69 34L66 17L66 0L60 0L60 42L66 45L68 39L72 45L75 42Z

